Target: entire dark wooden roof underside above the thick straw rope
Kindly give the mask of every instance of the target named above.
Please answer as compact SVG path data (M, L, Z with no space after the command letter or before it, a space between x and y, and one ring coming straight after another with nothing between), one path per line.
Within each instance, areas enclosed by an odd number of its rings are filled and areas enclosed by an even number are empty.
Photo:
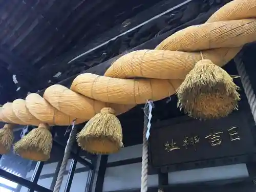
M184 6L68 63L184 2L0 0L0 104L77 75L189 20L214 12L228 0L188 0Z

